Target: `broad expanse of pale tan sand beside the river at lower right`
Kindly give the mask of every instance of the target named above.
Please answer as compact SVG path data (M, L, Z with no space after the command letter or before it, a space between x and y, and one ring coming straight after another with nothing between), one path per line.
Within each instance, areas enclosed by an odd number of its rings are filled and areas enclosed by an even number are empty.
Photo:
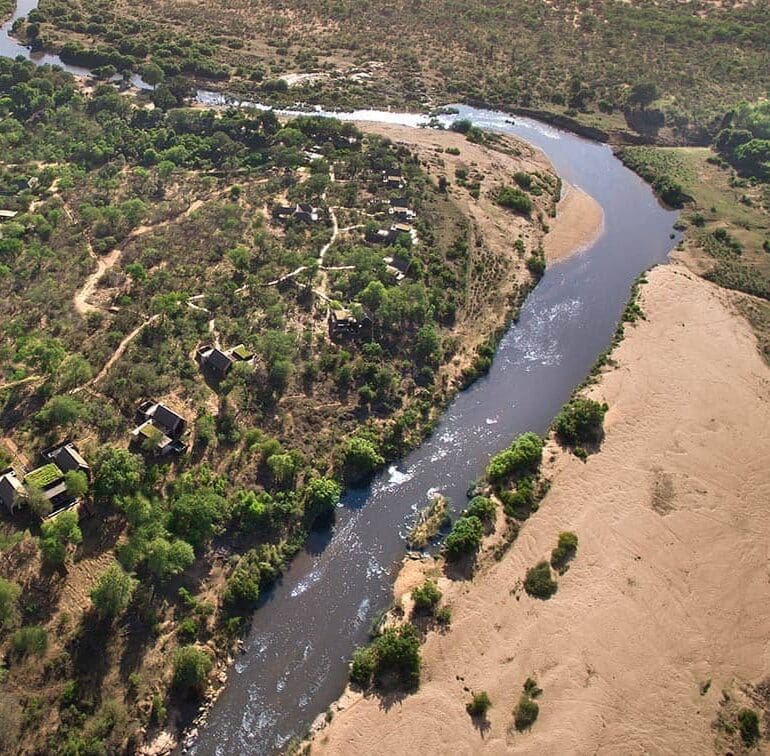
M558 457L501 562L440 581L452 629L429 635L420 690L389 709L348 694L313 753L709 753L722 689L770 672L770 372L726 292L665 266L642 296L648 320L593 390L601 452ZM561 530L580 546L558 593L517 600ZM530 675L540 717L517 733ZM492 699L484 734L464 686Z

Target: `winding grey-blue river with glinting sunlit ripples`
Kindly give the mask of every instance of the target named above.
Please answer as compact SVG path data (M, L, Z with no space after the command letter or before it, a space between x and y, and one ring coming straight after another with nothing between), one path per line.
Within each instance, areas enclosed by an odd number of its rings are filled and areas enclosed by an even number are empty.
M36 0L21 0L25 15ZM0 31L0 54L30 57ZM34 58L58 63L56 56ZM76 74L84 71L64 66ZM215 93L201 102L222 104ZM489 457L517 434L544 432L574 387L607 348L634 279L664 262L676 213L609 147L550 126L458 106L484 129L539 147L557 172L604 209L604 232L583 252L550 267L500 343L489 374L459 394L432 437L368 487L346 494L333 528L311 537L254 615L244 653L191 751L196 756L269 754L308 725L342 692L347 663L372 619L391 598L404 554L403 534L429 492L455 509ZM346 120L420 126L427 117L390 111L335 113Z

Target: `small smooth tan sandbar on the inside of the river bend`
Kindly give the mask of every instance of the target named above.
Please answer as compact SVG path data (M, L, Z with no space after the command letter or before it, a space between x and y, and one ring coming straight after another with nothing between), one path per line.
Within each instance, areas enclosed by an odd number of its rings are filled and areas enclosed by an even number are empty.
M602 206L590 194L565 182L556 218L550 221L543 239L546 260L554 263L586 249L603 230Z

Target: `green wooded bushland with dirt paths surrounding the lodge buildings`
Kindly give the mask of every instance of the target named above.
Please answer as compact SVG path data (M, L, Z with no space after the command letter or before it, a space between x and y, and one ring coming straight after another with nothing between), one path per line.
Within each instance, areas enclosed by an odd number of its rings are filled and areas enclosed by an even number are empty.
M468 221L407 149L333 120L176 103L0 61L0 186L17 213L0 237L0 468L69 437L92 472L66 479L92 516L41 525L33 487L0 519L12 750L116 752L189 721L342 487L417 443L476 354L455 335ZM396 195L417 244L369 238ZM530 196L549 212L549 193ZM316 219L274 220L296 203ZM371 334L331 340L342 307ZM196 364L205 342L254 358L215 379ZM188 419L188 454L126 448L148 397ZM473 512L483 528L488 507ZM366 669L415 684L415 632L386 633Z

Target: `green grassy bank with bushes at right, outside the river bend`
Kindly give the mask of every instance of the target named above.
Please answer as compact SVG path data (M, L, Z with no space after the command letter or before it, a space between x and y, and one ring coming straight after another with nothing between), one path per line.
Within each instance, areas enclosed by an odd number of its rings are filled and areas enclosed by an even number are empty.
M740 103L710 147L626 147L619 156L682 207L683 248L738 302L770 361L770 101Z

